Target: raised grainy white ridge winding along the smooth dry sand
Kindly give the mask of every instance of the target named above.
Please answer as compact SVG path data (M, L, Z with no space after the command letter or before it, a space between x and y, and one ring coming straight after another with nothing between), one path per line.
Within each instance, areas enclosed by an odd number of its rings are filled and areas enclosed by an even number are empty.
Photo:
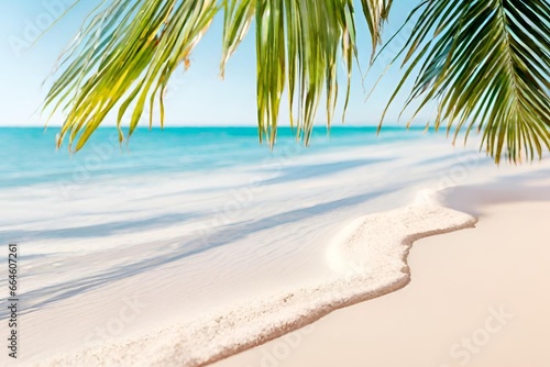
M332 256L345 262L348 270L352 270L339 273L338 266L332 266L336 278L330 282L249 300L193 323L158 330L123 343L54 356L40 365L77 362L139 365L146 360L147 366L207 366L310 325L337 310L395 292L410 281L407 255L414 242L472 227L476 222L469 214L441 207L436 201L427 202L426 197L422 199L420 203L365 215L354 221L351 229L345 229L348 237L331 245L336 246ZM378 237L365 246L365 236L388 229L395 231L397 226L402 226L400 232L392 232L389 238ZM358 238L358 232L362 232L363 237ZM356 259L361 260L353 263Z

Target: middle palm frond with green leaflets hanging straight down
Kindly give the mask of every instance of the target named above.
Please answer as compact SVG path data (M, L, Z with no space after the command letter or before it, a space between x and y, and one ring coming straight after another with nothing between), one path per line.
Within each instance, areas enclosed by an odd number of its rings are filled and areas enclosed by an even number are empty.
M352 2L270 0L256 5L255 20L261 132L268 136L271 145L275 143L280 98L288 79L290 124L308 144L323 89L329 125L332 120L340 48L346 63L352 59ZM348 70L351 73L351 64ZM298 111L294 118L296 99Z

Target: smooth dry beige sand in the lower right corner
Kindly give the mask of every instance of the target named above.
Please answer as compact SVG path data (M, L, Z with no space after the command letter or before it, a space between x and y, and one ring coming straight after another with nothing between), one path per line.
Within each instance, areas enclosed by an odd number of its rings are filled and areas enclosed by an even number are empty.
M549 177L447 192L480 221L416 242L407 287L212 366L550 366Z

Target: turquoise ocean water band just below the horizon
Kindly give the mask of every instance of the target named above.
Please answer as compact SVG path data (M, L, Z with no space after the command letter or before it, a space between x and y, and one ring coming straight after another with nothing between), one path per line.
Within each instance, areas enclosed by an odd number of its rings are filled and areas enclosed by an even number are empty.
M138 129L122 144L117 130L106 127L70 155L67 143L55 148L57 132L55 127L0 129L0 187L74 180L84 169L87 179L209 171L424 136L420 129L385 127L377 136L376 127L332 127L330 134L324 127L316 127L311 145L305 147L295 141L289 127L282 127L272 152L267 144L258 143L255 127Z

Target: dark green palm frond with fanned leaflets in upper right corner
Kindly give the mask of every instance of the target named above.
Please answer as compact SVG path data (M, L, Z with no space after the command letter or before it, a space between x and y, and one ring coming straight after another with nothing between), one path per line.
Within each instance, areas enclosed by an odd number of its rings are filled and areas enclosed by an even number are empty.
M473 129L483 132L496 163L550 149L547 0L428 1L398 57L404 79L420 70L407 101L420 101L413 119L436 100L436 129L454 129L454 140L462 130L465 140Z

